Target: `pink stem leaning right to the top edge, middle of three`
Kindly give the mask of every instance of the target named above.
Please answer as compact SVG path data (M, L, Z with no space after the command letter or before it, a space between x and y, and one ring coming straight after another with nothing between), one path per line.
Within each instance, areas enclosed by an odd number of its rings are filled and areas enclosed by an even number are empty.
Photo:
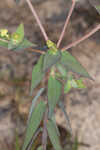
M70 17L71 17L72 12L73 12L73 10L74 10L74 8L75 8L75 2L76 2L75 0L72 0L72 6L71 6L70 11L69 11L69 13L68 13L68 17L66 18L65 25L64 25L64 27L63 27L63 29L62 29L61 35L60 35L60 37L59 37L59 40L58 40L58 42L57 42L57 48L60 46L60 43L61 43L61 41L62 41L62 39L63 39L63 37L64 37L65 30L66 30L66 28L67 28L67 26L68 26L68 23L69 23L69 21L70 21Z

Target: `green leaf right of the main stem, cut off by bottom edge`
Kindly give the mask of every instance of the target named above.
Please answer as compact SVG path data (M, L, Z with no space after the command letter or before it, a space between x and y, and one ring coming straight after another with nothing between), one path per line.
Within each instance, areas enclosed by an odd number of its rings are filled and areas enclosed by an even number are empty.
M48 130L48 135L49 135L50 141L51 141L54 149L55 150L62 150L62 147L61 147L61 144L59 141L59 137L58 137L55 125L52 122L52 120L48 120L47 130Z

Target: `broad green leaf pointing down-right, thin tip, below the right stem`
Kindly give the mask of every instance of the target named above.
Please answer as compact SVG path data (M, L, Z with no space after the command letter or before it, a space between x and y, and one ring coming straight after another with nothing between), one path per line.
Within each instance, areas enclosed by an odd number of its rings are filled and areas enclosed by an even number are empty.
M61 64L69 71L91 78L84 67L68 51L62 52Z

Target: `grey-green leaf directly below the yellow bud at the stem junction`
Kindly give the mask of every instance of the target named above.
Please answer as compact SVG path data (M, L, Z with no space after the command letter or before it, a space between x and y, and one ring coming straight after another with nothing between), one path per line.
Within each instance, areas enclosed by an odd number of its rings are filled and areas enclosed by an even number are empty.
M51 54L49 51L44 56L43 71L47 71L47 69L56 64L61 58L60 51L57 51L56 54Z

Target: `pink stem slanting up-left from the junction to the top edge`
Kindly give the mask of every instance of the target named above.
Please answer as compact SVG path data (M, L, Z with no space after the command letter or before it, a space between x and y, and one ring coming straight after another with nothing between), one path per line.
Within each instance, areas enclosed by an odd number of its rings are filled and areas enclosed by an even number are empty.
M37 24L38 24L39 27L40 27L40 30L41 30L41 32L42 32L42 34L43 34L43 36L44 36L45 41L47 41L47 40L48 40L48 36L47 36L47 34L46 34L46 31L45 31L45 29L44 29L44 27L43 27L43 25L42 25L42 23L41 23L41 21L40 21L40 19L39 19L38 15L37 15L37 13L36 13L36 11L35 11L35 9L34 9L34 7L32 6L30 0L26 0L26 2L27 2L27 4L28 4L30 10L32 11L33 16L35 17L35 19L36 19L36 21L37 21Z

